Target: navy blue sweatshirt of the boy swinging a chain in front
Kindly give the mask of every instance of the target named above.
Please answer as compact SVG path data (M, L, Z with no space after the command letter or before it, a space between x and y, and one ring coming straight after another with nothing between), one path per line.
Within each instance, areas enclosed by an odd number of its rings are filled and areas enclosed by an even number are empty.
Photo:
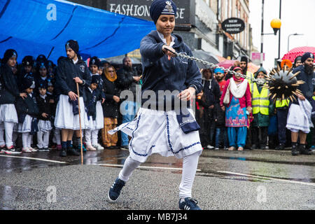
M183 43L181 36L176 34L172 34L172 36L174 36L175 43L172 48L176 52L193 56L188 45ZM183 57L172 57L169 60L167 55L162 51L162 45L165 45L165 43L156 30L151 31L150 34L141 40L140 52L143 66L142 94L146 90L152 90L158 96L157 93L159 90L169 90L171 92L178 90L181 92L190 86L196 88L196 94L201 92L202 75L196 62ZM174 98L176 95L172 97ZM147 100L142 99L142 105ZM156 108L158 109L158 106Z

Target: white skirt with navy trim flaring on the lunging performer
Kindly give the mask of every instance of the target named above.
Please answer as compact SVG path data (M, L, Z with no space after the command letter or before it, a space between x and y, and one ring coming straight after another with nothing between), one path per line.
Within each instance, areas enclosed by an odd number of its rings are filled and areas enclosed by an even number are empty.
M189 110L193 114L192 110ZM153 153L162 156L183 158L196 152L202 153L199 132L185 134L176 120L175 111L155 111L139 109L137 117L130 123L124 123L109 134L122 131L132 139L129 144L130 156L139 162L145 162Z

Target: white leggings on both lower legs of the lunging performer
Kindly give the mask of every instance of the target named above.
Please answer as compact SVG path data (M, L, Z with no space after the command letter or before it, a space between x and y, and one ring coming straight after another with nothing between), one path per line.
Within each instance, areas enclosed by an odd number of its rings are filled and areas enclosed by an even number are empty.
M183 174L181 176L181 184L179 185L179 197L191 197L199 156L200 152L197 152L183 158ZM141 165L141 162L133 160L128 156L118 178L128 181L134 169L137 169L139 165Z

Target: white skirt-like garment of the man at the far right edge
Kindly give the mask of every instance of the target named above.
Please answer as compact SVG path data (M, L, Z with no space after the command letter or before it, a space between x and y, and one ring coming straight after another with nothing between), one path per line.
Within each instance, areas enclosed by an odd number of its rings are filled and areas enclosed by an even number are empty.
M309 133L310 128L314 127L311 123L311 104L307 99L299 100L299 104L291 104L288 111L288 119L286 121L286 128L291 132L302 131Z

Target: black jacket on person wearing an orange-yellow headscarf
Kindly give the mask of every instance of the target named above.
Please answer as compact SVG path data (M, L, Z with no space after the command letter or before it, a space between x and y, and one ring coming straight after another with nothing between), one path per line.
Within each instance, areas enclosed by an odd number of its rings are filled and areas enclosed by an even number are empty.
M104 118L118 118L119 104L113 100L113 96L120 95L117 80L111 82L105 76L102 76L102 79L105 93L105 102L102 105Z

